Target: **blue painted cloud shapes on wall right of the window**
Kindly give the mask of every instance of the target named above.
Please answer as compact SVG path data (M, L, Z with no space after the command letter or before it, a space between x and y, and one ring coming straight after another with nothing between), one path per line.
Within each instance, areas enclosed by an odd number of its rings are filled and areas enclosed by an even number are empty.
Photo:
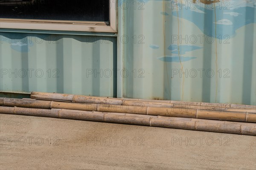
M165 3L166 11L161 11L160 14L166 18L170 17L169 22L179 18L182 19L180 25L184 26L183 20L187 20L193 23L191 26L198 27L205 36L216 38L214 41L225 41L227 37L232 39L236 36L236 30L256 23L256 0L167 0ZM158 49L153 46L150 48ZM166 55L157 59L164 62L186 62L196 57L183 55L203 47L189 43L186 45L175 43L167 45L166 48L178 56Z

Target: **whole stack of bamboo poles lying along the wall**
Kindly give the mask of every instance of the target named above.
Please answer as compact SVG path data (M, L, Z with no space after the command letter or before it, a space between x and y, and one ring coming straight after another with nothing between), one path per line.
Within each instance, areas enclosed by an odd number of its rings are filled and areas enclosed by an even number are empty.
M256 136L256 106L252 105L39 92L32 92L31 98L0 98L0 113Z

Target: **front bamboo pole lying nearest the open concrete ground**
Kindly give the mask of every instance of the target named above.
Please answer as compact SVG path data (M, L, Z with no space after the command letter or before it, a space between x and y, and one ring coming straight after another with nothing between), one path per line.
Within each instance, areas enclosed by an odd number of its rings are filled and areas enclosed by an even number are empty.
M169 127L186 130L200 130L220 133L235 133L256 136L256 125L253 123L227 122L165 116L136 115L129 113L106 113L98 111L77 111L67 109L37 109L0 106L0 113L29 116L46 116L65 119L79 119L98 122L113 122L131 125Z

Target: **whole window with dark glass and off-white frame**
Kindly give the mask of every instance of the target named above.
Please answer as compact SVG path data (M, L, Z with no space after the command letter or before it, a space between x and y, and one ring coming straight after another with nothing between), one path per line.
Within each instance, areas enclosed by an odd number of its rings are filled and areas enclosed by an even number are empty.
M117 0L0 0L0 27L116 32Z

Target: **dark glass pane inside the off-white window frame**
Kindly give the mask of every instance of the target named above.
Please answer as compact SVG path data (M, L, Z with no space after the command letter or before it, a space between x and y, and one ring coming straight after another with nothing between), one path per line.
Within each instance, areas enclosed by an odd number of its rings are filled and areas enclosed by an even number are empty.
M0 0L0 18L109 21L109 0Z

